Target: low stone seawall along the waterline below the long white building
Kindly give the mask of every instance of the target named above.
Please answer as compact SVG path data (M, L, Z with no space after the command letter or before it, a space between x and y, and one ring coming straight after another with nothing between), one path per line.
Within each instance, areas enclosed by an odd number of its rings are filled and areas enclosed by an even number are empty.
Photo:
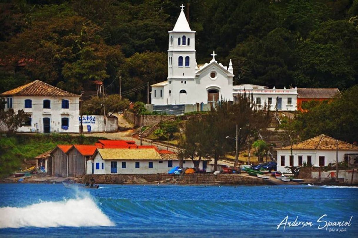
M222 184L222 185L267 185L269 180L248 176L246 174L87 174L76 178L77 182L85 183L94 178L99 184Z

